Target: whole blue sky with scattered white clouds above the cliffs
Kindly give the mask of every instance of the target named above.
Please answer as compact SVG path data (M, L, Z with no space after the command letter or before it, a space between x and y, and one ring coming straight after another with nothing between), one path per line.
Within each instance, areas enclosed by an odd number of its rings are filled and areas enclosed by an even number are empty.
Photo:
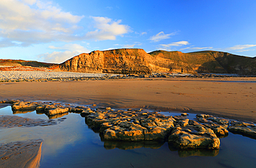
M253 0L0 0L0 59L118 48L256 56Z

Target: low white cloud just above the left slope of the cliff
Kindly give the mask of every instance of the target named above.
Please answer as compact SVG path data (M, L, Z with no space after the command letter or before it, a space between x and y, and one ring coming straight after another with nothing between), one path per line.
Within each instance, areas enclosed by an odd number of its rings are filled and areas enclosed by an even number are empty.
M82 53L88 53L90 52L88 49L84 48L82 45L70 43L66 45L62 45L60 47L55 47L53 45L50 45L48 48L54 49L54 50L64 50L64 51L58 51L58 52L52 52L52 53L44 53L39 54L37 57L43 59L44 62L47 63L63 63L64 61L71 59L73 56L76 56L78 54Z

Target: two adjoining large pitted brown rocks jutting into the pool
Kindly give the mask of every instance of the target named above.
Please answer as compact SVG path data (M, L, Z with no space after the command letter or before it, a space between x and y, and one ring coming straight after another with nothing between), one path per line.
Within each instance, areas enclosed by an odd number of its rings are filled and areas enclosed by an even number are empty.
M219 149L220 141L209 127L186 116L163 116L157 112L88 112L86 124L102 134L104 140L163 141L181 149Z

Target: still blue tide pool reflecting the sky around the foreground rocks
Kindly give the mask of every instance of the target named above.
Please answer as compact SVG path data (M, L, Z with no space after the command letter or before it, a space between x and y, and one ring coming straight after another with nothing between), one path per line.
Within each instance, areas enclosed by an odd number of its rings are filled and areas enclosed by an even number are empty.
M163 113L175 115L175 113ZM45 114L13 114L11 107L0 115L48 119ZM176 114L180 115L180 114ZM87 127L80 114L70 113L57 125L0 129L0 143L44 139L40 167L255 167L256 140L230 133L221 138L219 150L178 151L168 143L102 141ZM190 114L190 118L195 118Z

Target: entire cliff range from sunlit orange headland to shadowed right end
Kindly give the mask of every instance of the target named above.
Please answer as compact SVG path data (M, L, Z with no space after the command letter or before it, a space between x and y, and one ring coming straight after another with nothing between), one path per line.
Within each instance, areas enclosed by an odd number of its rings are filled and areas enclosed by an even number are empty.
M167 52L147 54L143 49L94 51L60 64L70 72L151 74L152 72L256 74L256 58L226 52Z

